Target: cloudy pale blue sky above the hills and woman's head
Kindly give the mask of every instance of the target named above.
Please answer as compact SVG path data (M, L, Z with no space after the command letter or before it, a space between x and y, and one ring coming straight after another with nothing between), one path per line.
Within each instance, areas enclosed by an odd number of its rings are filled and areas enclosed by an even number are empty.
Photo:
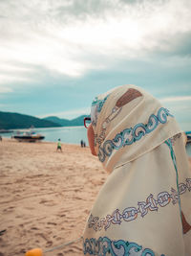
M73 119L122 84L191 130L190 0L0 0L0 111Z

